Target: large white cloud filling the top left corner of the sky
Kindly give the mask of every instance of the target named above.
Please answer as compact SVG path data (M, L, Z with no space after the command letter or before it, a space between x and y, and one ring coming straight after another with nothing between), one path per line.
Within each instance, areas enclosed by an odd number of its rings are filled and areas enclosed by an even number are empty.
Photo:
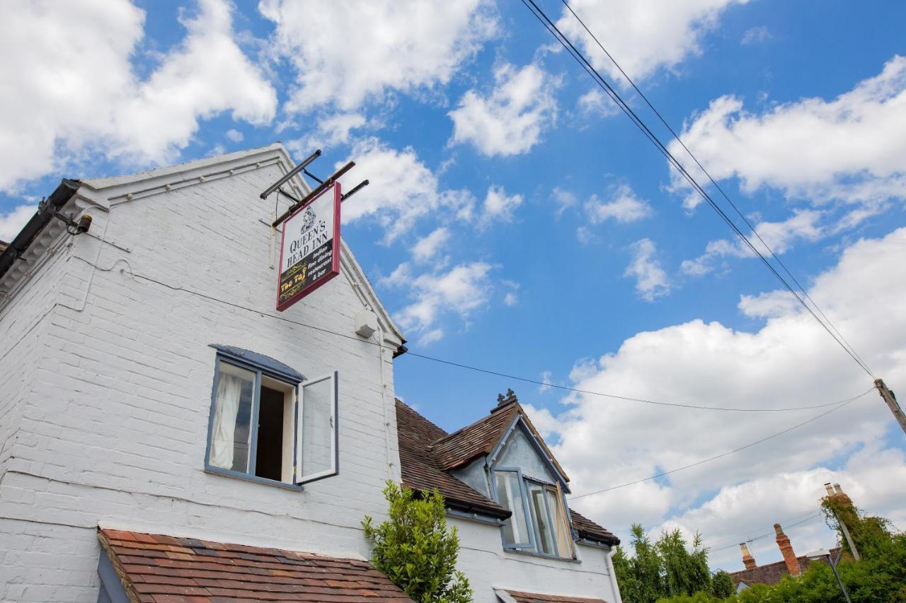
M0 188L92 153L142 164L178 157L198 120L271 120L276 94L233 37L229 5L199 0L145 81L133 69L145 14L126 0L18 2L0 19ZM79 32L78 40L72 31ZM35 43L40 40L40 43ZM52 91L49 92L49 91Z

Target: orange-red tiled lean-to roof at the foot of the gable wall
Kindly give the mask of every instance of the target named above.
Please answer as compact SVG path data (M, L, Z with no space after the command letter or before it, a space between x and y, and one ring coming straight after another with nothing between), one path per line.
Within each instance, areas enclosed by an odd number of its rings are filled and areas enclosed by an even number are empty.
M140 603L411 603L367 561L132 531L101 530L98 539L126 593Z

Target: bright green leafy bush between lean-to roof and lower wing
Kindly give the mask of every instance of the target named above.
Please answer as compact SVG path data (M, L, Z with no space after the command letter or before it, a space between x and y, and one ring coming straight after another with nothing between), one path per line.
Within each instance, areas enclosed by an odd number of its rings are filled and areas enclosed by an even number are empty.
M387 482L386 522L361 522L373 545L372 563L410 598L423 603L467 603L468 579L456 570L459 537L447 529L447 508L437 489L416 499L410 488Z

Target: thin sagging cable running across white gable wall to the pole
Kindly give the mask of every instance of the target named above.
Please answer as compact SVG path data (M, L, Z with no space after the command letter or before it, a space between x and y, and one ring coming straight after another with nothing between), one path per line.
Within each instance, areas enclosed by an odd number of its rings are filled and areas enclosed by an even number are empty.
M245 310L245 311L253 312L253 313L257 314L258 316L266 316L268 318L273 318L277 321L288 322L291 324L298 325L300 327L305 327L307 329L317 330L317 331L320 331L323 333L329 333L331 335L336 335L338 337L342 337L342 338L345 338L348 340L359 341L361 343L367 343L369 345L378 346L378 347L381 347L384 349L390 349L391 351L393 351L393 349L391 349L389 346L384 346L381 342L363 340L363 339L361 339L361 337L348 335L346 333L341 333L341 332L335 331L335 330L324 329L323 327L318 327L313 324L309 324L307 322L294 321L285 316L280 316L277 314L270 314L270 313L263 312L260 310L255 310L254 308L249 308L248 306L244 306L242 304L238 304L238 303L234 303L234 302L227 302L226 300L221 300L220 298L217 298L213 295L207 295L206 293L197 292L197 291L187 289L187 288L179 286L179 285L173 285L173 284L169 284L168 282L162 282L162 281L159 281L158 279L155 279L150 276L146 276L144 274L135 273L132 271L130 264L126 260L120 259L120 260L117 260L117 262L113 263L113 265L110 268L101 268L100 266L97 266L97 265L89 262L88 260L84 260L82 258L79 258L79 259L82 260L82 262L84 262L84 263L88 263L89 265L94 266L94 268L96 268L97 270L100 270L101 272L111 272L116 267L117 263L120 263L120 262L125 263L127 266L129 266L129 270L126 271L125 269L123 269L123 272L128 272L134 278L141 279L141 280L147 281L147 282L156 283L162 287L169 289L170 291L188 293L190 295L195 295L197 297L206 299L210 302L217 302L217 303L221 303L226 306L229 306L231 308L236 308L238 310ZM511 375L511 374L507 374L507 373L500 372L497 370L482 369L480 367L463 364L461 362L454 362L452 360L439 359L439 358L435 358L433 356L428 356L426 354L419 354L418 352L412 351L411 349L406 352L406 355L413 356L413 357L419 358L419 359L430 360L431 362L437 362L439 364L443 364L443 365L447 365L447 366L451 366L451 367L458 367L459 369L467 369L467 370L472 370L472 371L479 372L479 373L484 373L486 375L493 375L495 377L503 377L503 378L513 379L514 381L522 381L523 383L532 383L532 384L538 385L538 386L562 389L565 391L570 391L570 392L575 392L575 393L580 393L580 394L587 394L587 395L591 395L591 396L600 396L600 397L610 397L610 398L616 399L616 400L624 400L627 402L639 402L641 404L650 404L650 405L659 406L659 407L679 407L679 408L690 408L690 409L697 409L697 410L714 410L714 411L723 411L723 412L746 412L746 413L791 412L791 411L796 411L796 410L814 410L815 408L833 407L835 405L840 405L845 402L849 402L853 399L853 398L846 398L843 400L838 400L836 402L828 402L828 403L824 403L824 404L817 404L814 406L805 406L805 407L783 407L783 408L708 407L708 406L696 405L696 404L683 404L683 403L679 403L679 402L663 402L663 401L657 401L657 400L649 400L649 399L645 399L645 398L641 398L641 397L620 396L617 394L608 394L605 392L593 391L590 389L570 388L568 386L557 385L554 383L545 383L544 381L539 381L539 380L533 379L533 378L519 377L518 375ZM872 388L872 390L873 389L874 388ZM872 391L872 390L870 390L870 391Z

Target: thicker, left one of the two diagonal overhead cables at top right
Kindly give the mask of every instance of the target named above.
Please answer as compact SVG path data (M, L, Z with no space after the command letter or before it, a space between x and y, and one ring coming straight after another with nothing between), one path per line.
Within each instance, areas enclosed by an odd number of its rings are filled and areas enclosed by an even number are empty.
M749 240L749 238L739 229L739 227L736 225L736 223L733 222L732 219L730 219L727 213L724 212L724 210L721 209L720 206L718 206L717 202L715 202L714 199L711 198L710 195L708 195L708 192L703 187L701 187L701 185L699 185L699 182L695 179L695 177L689 174L689 171L685 167L683 167L681 163L679 163L679 160L674 157L672 152L670 152L670 149L667 148L663 142L661 142L658 136L651 131L644 120L641 120L641 118L635 113L635 111L631 109L629 104L627 104L626 101L623 101L620 93L613 89L611 84L608 83L608 81L603 78L601 73L599 73L593 67L592 63L585 58L584 54L575 47L570 39L566 37L566 35L562 31L560 31L557 25L554 24L553 21L551 21L550 17L545 14L544 10L542 10L535 3L535 0L521 1L523 5L525 5L525 7L529 10L529 12L531 12L535 16L538 22L541 23L545 27L545 29L554 36L557 42L559 42L564 47L566 52L570 54L573 60L579 63L583 70L592 77L593 81L595 81L595 83L607 93L611 100L617 104L617 106L623 111L623 113L625 113L626 116L630 118L636 128L640 129L642 134L651 141L651 144L653 144L655 148L660 152L660 154L667 159L670 165L679 172L680 176L682 176L689 183L689 186L692 187L699 194L699 196L701 196L702 199L704 199L708 203L708 206L710 206L718 214L718 216L733 230L733 232L736 233L736 235L742 240L742 242L746 244L747 248L757 256L761 263L766 266L767 270L774 274L777 281L779 281L786 288L786 290L795 297L796 301L799 302L803 306L803 308L805 308L805 310L812 315L814 320L817 321L825 331L827 331L827 333L834 339L834 341L837 342L838 345L840 345L841 348L843 348L843 351L845 351L850 356L850 358L852 358L853 361L857 365L859 365L861 369L863 369L869 376L873 378L874 376L871 369L869 369L868 366L858 358L858 355L855 354L852 349L850 349L846 344L843 343L840 338L837 337L837 335L834 334L834 331L831 330L824 321L818 318L818 315L814 310L812 310L812 307L805 303L805 300L803 300L803 298L797 292L795 292L795 289L793 289L792 285L790 285L790 283L786 281L782 274L777 272L774 265L770 263L765 255L757 249L755 244L753 244Z

